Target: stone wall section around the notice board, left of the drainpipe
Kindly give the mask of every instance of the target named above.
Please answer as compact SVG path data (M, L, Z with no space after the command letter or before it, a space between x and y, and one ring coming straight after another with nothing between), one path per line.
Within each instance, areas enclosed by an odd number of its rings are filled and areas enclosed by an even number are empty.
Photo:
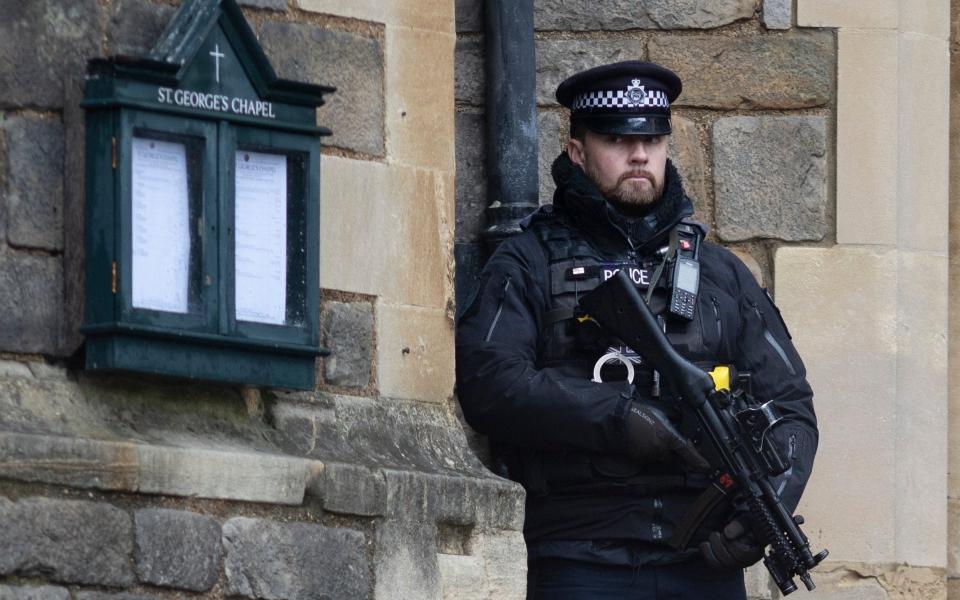
M338 88L306 392L82 369L85 63L179 2L0 1L0 598L520 598L523 492L451 403L453 2L240 4Z

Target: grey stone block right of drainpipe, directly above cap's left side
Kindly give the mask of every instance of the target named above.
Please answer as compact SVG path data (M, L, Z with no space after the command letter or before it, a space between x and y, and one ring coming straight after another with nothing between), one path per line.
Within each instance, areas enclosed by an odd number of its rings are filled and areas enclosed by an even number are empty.
M607 63L646 58L643 42L631 38L538 40L536 53L537 104L552 106L558 106L553 96L557 86L574 73Z

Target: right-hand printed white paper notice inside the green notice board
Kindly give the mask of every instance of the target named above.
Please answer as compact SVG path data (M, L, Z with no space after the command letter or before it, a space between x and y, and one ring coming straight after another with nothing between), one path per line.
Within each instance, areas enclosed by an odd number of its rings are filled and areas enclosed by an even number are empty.
M282 325L287 314L287 157L237 152L237 320Z

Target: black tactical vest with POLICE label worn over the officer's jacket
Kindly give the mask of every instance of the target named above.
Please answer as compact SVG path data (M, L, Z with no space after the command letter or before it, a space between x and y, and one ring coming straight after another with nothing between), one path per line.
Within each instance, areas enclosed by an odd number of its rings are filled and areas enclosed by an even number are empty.
M542 245L549 264L548 289L550 305L543 323L538 348L538 368L554 367L571 370L578 376L590 378L594 365L611 346L596 324L581 322L575 308L579 298L611 277L616 269L628 269L628 275L646 293L652 282L658 260L638 257L629 252L608 253L591 245L580 231L556 213L541 213L531 219L528 228ZM654 288L651 309L659 314L666 309L669 273L663 274ZM703 357L700 316L682 326L668 328L671 344L693 360ZM627 349L624 349L627 350ZM631 354L631 356L636 356ZM653 382L653 371L640 357L635 367L633 384L644 390ZM607 373L607 371L605 371ZM605 381L625 379L625 370L610 370ZM699 435L699 425L692 414L685 414L679 402L674 402L669 390L664 389L659 406L675 419L681 432L693 439ZM640 496L680 489L702 489L706 480L702 475L686 474L679 466L662 465L656 469L636 464L625 455L586 454L567 451L560 454L527 454L511 471L520 473L520 481L534 496L551 492L619 491Z

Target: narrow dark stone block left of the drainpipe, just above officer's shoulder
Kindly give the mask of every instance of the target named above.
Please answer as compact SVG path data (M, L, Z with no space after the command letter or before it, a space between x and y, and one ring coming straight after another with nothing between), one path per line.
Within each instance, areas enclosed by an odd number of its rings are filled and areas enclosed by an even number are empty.
M486 119L483 113L458 112L456 133L455 236L458 242L477 242L486 227L484 211L488 205Z

